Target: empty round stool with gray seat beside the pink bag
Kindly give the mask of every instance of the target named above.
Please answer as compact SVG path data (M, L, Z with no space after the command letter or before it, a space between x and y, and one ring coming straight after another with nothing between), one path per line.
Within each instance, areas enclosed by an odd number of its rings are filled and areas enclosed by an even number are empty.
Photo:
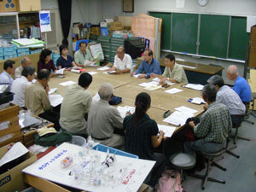
M195 166L195 157L192 154L172 154L170 162L177 170L180 170L180 175L183 182L183 170L192 169Z

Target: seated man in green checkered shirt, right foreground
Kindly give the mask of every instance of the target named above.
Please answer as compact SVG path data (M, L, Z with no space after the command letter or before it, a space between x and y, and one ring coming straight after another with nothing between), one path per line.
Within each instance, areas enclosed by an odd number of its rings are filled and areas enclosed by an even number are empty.
M217 90L213 84L206 84L201 91L202 98L208 104L207 111L202 114L201 121L189 125L194 129L198 140L184 143L185 152L202 151L216 153L224 148L228 131L232 128L229 109L216 101Z

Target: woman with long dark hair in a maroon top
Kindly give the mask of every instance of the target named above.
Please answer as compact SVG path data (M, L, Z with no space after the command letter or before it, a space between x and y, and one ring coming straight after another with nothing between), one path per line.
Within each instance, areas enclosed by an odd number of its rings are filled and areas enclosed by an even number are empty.
M38 72L40 72L42 69L48 69L49 72L51 72L50 76L52 76L52 72L55 73L56 71L55 64L51 59L51 50L49 49L43 49L40 53L38 61Z

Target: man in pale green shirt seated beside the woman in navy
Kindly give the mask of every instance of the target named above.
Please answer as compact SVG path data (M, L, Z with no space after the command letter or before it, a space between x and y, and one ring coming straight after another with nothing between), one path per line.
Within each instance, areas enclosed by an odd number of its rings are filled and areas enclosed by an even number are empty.
M74 54L74 61L77 66L79 67L84 67L84 61L92 61L93 58L90 54L90 50L86 49L86 43L85 42L80 42L79 43L79 50L75 52Z

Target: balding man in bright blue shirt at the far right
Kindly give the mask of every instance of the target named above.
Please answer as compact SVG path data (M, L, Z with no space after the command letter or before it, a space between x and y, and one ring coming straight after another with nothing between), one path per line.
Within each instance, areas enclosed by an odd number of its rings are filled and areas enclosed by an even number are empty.
M239 72L235 65L231 65L230 67L228 67L227 78L235 82L233 90L235 90L237 95L240 96L241 102L246 105L248 111L252 97L252 90L250 85L247 83L247 80L239 75Z

